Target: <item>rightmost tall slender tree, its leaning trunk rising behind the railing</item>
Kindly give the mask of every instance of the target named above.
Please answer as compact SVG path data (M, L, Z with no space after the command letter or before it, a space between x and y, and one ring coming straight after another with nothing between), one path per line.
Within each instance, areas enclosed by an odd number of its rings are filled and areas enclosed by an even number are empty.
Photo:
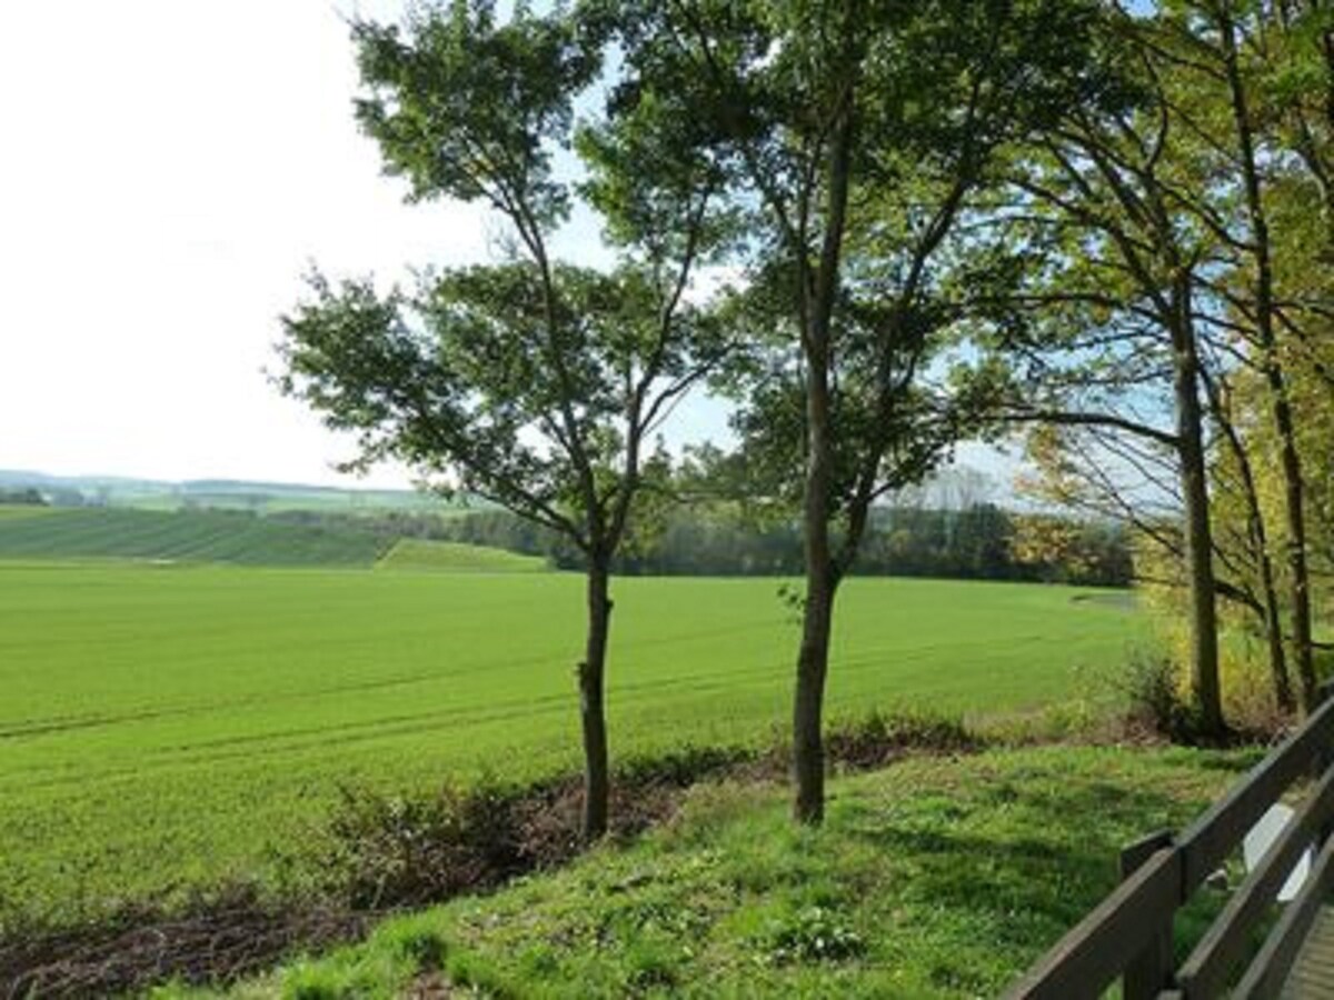
M1277 457L1281 503L1275 521L1282 531L1270 531L1255 503L1247 521L1266 548L1262 576L1274 576L1266 565L1270 540L1285 543L1293 660L1303 704L1310 708L1317 692L1306 471L1289 371L1311 340L1310 316L1285 307L1279 257L1282 192L1294 189L1299 161L1319 169L1321 144L1306 128L1297 144L1299 156L1293 156L1285 148L1291 132L1285 139L1278 125L1285 104L1278 49L1291 33L1283 8L1253 0L1173 0L1157 4L1137 21L1137 29L1146 61L1166 81L1163 113L1177 123L1178 144L1187 151L1181 157L1186 169L1170 191L1171 207L1193 219L1213 244L1209 267L1197 269L1195 277L1199 323L1211 328L1209 336L1219 345L1218 380L1235 369L1237 384L1253 383L1241 399L1253 400L1269 423L1263 436L1253 432L1243 439L1235 421L1215 407L1215 421L1250 496L1258 496L1254 469L1269 465L1263 452ZM1322 59L1313 65L1327 69Z

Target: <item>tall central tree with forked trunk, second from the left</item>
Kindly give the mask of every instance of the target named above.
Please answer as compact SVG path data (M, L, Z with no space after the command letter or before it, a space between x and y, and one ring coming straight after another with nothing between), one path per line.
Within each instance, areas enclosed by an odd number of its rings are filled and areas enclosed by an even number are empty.
M958 420L922 375L958 319L947 261L998 152L1087 97L1089 8L1062 0L622 5L638 93L686 95L752 220L742 263L766 377L746 444L800 468L806 593L792 711L798 820L824 808L838 587L871 504Z

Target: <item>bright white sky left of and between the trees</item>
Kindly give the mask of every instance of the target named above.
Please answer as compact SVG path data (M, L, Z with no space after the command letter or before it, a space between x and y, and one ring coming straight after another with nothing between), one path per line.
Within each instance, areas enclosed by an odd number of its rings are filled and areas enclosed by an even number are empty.
M354 11L402 3L0 5L0 468L410 484L338 473L352 441L267 375L312 264L392 281L494 256L494 216L380 173ZM595 228L563 251L596 256ZM714 401L674 419L676 443L726 435Z

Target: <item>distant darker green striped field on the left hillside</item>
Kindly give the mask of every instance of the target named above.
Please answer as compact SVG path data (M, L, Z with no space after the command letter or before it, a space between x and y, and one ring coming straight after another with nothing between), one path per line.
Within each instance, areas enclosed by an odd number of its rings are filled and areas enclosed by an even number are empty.
M0 559L370 567L386 545L371 532L288 524L239 511L92 508L0 515Z

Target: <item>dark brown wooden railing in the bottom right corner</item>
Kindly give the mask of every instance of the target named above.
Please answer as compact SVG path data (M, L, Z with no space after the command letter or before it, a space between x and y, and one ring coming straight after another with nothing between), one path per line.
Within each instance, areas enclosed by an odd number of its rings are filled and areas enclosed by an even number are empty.
M1125 1000L1271 997L1334 887L1334 689L1319 708L1221 801L1179 835L1153 833L1121 855L1122 883L1006 993L1009 1000L1098 997L1118 977ZM1179 967L1173 920L1298 779L1311 791ZM1257 928L1306 848L1321 847L1298 896L1251 956ZM1235 985L1233 985L1235 984Z

